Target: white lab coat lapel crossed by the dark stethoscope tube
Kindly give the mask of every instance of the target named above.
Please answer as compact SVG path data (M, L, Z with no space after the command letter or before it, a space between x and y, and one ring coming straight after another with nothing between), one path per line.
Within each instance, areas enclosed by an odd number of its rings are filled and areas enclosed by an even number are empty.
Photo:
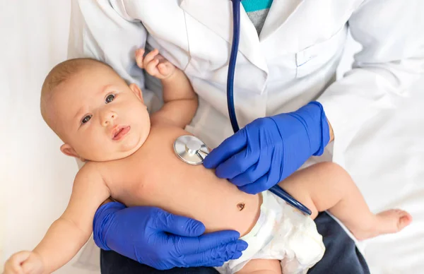
M179 6L223 40L229 44L232 43L232 2L230 0L180 0ZM240 13L239 54L241 52L252 64L268 73L257 31L241 4Z

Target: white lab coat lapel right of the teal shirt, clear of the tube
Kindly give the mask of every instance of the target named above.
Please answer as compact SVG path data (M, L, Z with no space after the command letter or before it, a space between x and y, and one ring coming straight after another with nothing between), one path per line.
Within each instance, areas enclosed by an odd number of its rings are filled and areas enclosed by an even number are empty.
M259 39L261 42L273 35L283 23L290 20L293 13L299 8L304 0L273 0L266 16L264 27L261 30Z

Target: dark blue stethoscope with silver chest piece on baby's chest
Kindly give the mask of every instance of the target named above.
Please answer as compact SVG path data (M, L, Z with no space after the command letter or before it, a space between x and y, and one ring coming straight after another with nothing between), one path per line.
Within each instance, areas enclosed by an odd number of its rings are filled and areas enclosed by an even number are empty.
M228 114L231 121L232 130L236 133L239 131L239 126L237 124L237 118L235 117L235 107L234 107L234 98L233 98L233 88L234 88L234 74L235 74L235 61L237 59L238 45L240 41L240 1L241 0L232 0L232 46L231 46L231 55L230 62L228 64L228 77L227 77L227 104L228 104ZM203 163L206 155L209 154L208 147L202 142L199 138L195 136L180 136L174 143L175 154L190 165L200 165ZM297 201L293 196L290 196L289 193L281 189L278 184L269 189L271 193L274 193L276 196L282 198L289 205L292 205L294 208L298 208L301 212L311 215L311 210L305 205Z

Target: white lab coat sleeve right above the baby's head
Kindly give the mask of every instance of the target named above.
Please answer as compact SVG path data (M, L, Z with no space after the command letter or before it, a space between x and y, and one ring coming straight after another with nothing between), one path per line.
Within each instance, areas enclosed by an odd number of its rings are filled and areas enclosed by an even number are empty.
M147 31L130 18L119 0L72 0L68 58L104 61L127 83L143 90L146 105L155 97L144 88L143 70L136 66L136 49L146 46ZM148 106L149 107L149 106Z

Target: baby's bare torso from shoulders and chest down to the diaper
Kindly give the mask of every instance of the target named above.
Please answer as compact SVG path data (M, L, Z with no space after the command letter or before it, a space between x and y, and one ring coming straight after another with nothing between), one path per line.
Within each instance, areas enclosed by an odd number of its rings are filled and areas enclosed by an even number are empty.
M111 174L112 197L132 205L149 205L204 223L206 232L236 230L247 234L259 218L261 196L237 189L203 165L189 165L174 153L182 129L152 128L142 148Z

